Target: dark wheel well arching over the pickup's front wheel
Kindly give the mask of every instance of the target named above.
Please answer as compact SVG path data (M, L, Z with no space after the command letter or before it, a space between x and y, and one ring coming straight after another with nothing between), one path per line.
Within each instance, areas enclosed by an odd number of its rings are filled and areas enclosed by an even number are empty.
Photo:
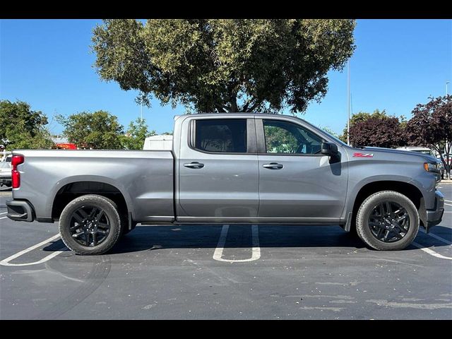
M393 182L393 181L381 181L381 182L371 182L362 186L359 190L355 203L353 204L352 210L352 223L350 227L355 227L356 215L365 198L379 191L396 191L401 193L415 204L417 210L420 210L422 202L422 193L416 186L408 184L406 182Z

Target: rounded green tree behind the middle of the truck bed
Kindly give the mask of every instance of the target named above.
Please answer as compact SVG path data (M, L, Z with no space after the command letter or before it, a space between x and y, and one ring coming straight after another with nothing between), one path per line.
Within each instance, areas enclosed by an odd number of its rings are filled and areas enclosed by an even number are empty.
M121 149L123 127L116 116L105 111L81 112L64 117L57 116L57 121L64 126L64 135L69 142L79 148L101 150Z

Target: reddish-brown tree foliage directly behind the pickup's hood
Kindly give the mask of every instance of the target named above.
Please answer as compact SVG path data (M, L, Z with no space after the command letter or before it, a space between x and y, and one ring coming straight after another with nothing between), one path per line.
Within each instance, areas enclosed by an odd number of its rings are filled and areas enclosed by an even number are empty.
M345 129L345 133L347 130ZM345 134L345 139L347 138ZM378 109L372 114L359 112L350 119L352 145L396 148L405 145L405 136L398 117L390 117Z

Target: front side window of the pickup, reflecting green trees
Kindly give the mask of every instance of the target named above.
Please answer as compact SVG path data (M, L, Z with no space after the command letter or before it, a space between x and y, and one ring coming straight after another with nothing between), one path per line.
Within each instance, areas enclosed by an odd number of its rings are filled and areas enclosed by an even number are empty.
M322 138L302 126L282 120L263 120L266 153L319 154Z

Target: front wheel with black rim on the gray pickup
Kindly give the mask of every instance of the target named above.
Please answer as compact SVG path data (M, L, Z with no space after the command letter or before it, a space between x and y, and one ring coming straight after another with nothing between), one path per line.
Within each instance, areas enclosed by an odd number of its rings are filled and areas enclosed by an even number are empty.
M388 213L391 210L392 213ZM407 196L396 191L379 191L366 198L359 207L356 230L359 238L372 249L398 251L415 239L419 223L416 206Z

